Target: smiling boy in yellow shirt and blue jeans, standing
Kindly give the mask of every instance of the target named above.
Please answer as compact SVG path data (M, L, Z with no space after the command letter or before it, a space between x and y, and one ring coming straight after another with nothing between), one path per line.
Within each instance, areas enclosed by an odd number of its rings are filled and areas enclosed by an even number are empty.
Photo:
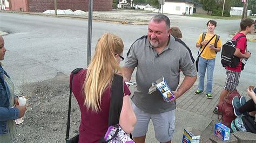
M214 30L217 26L217 22L209 20L206 24L207 32L201 33L197 40L196 47L200 47L201 55L198 62L198 90L194 94L198 95L204 91L204 78L207 69L207 84L206 84L206 98L212 98L212 82L213 71L215 66L215 58L217 52L221 49L221 40L215 35ZM214 37L213 37L214 36ZM213 38L212 38L213 37ZM212 39L212 40L211 40ZM208 42L211 40L210 42ZM208 43L208 44L207 44Z

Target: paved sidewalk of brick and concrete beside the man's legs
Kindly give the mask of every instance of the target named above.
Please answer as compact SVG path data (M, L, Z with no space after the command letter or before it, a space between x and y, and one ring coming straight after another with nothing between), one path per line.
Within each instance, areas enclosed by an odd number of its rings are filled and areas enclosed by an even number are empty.
M134 77L132 77L132 80L133 78ZM181 75L180 84L183 79L184 76ZM214 133L215 123L219 122L218 115L215 115L213 110L219 101L219 95L223 89L223 85L213 84L212 99L205 97L205 91L203 94L195 95L194 91L196 91L197 88L198 80L185 94L177 99L176 129L172 142L182 141L183 128L185 127L195 127L200 130L202 132L200 142L212 142L209 138ZM133 92L134 87L130 87L130 90ZM249 99L246 91L239 91L239 94L245 96L247 100ZM152 123L149 125L146 142L157 142L154 138Z

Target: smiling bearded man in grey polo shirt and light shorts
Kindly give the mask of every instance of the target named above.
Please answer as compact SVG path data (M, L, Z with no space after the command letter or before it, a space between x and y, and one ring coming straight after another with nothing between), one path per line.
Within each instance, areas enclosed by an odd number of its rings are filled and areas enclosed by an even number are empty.
M172 140L176 103L165 102L159 91L147 94L152 82L164 76L177 99L192 87L197 78L190 50L170 32L170 19L165 15L156 15L150 20L147 35L137 39L127 52L123 67L125 81L131 80L133 70L137 67L137 89L132 97L132 107L137 117L133 130L135 142L145 142L150 119L158 141ZM180 69L185 78L176 90Z

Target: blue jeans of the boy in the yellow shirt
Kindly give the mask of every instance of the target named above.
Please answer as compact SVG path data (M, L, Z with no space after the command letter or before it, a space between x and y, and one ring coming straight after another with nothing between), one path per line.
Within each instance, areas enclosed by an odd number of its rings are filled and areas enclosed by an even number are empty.
M206 94L212 92L212 79L213 79L213 70L215 66L214 59L204 59L199 57L198 62L198 90L204 91L204 81L205 81L205 71L207 69L207 85L206 85Z

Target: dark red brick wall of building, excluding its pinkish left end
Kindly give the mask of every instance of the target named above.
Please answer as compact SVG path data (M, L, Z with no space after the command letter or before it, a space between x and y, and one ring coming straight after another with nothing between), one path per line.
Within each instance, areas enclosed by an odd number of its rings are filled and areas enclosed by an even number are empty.
M111 11L112 0L94 0L93 11ZM72 11L88 11L89 0L57 0L57 9ZM28 0L28 12L44 12L54 10L54 0Z

